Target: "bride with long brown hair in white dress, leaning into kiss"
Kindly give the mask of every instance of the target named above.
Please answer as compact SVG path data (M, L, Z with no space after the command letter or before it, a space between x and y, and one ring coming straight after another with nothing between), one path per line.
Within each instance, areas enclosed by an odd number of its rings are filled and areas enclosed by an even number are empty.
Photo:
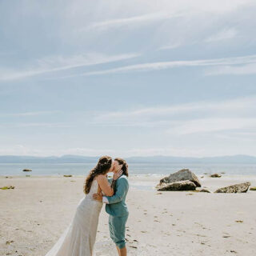
M98 216L102 210L102 202L93 199L94 193L107 196L114 194L114 186L110 186L106 174L114 170L114 161L109 156L99 158L97 166L90 170L84 184L85 198L78 203L77 210L70 225L55 243L46 256L91 256L98 227ZM114 173L117 180L122 170ZM115 182L113 182L115 183Z

